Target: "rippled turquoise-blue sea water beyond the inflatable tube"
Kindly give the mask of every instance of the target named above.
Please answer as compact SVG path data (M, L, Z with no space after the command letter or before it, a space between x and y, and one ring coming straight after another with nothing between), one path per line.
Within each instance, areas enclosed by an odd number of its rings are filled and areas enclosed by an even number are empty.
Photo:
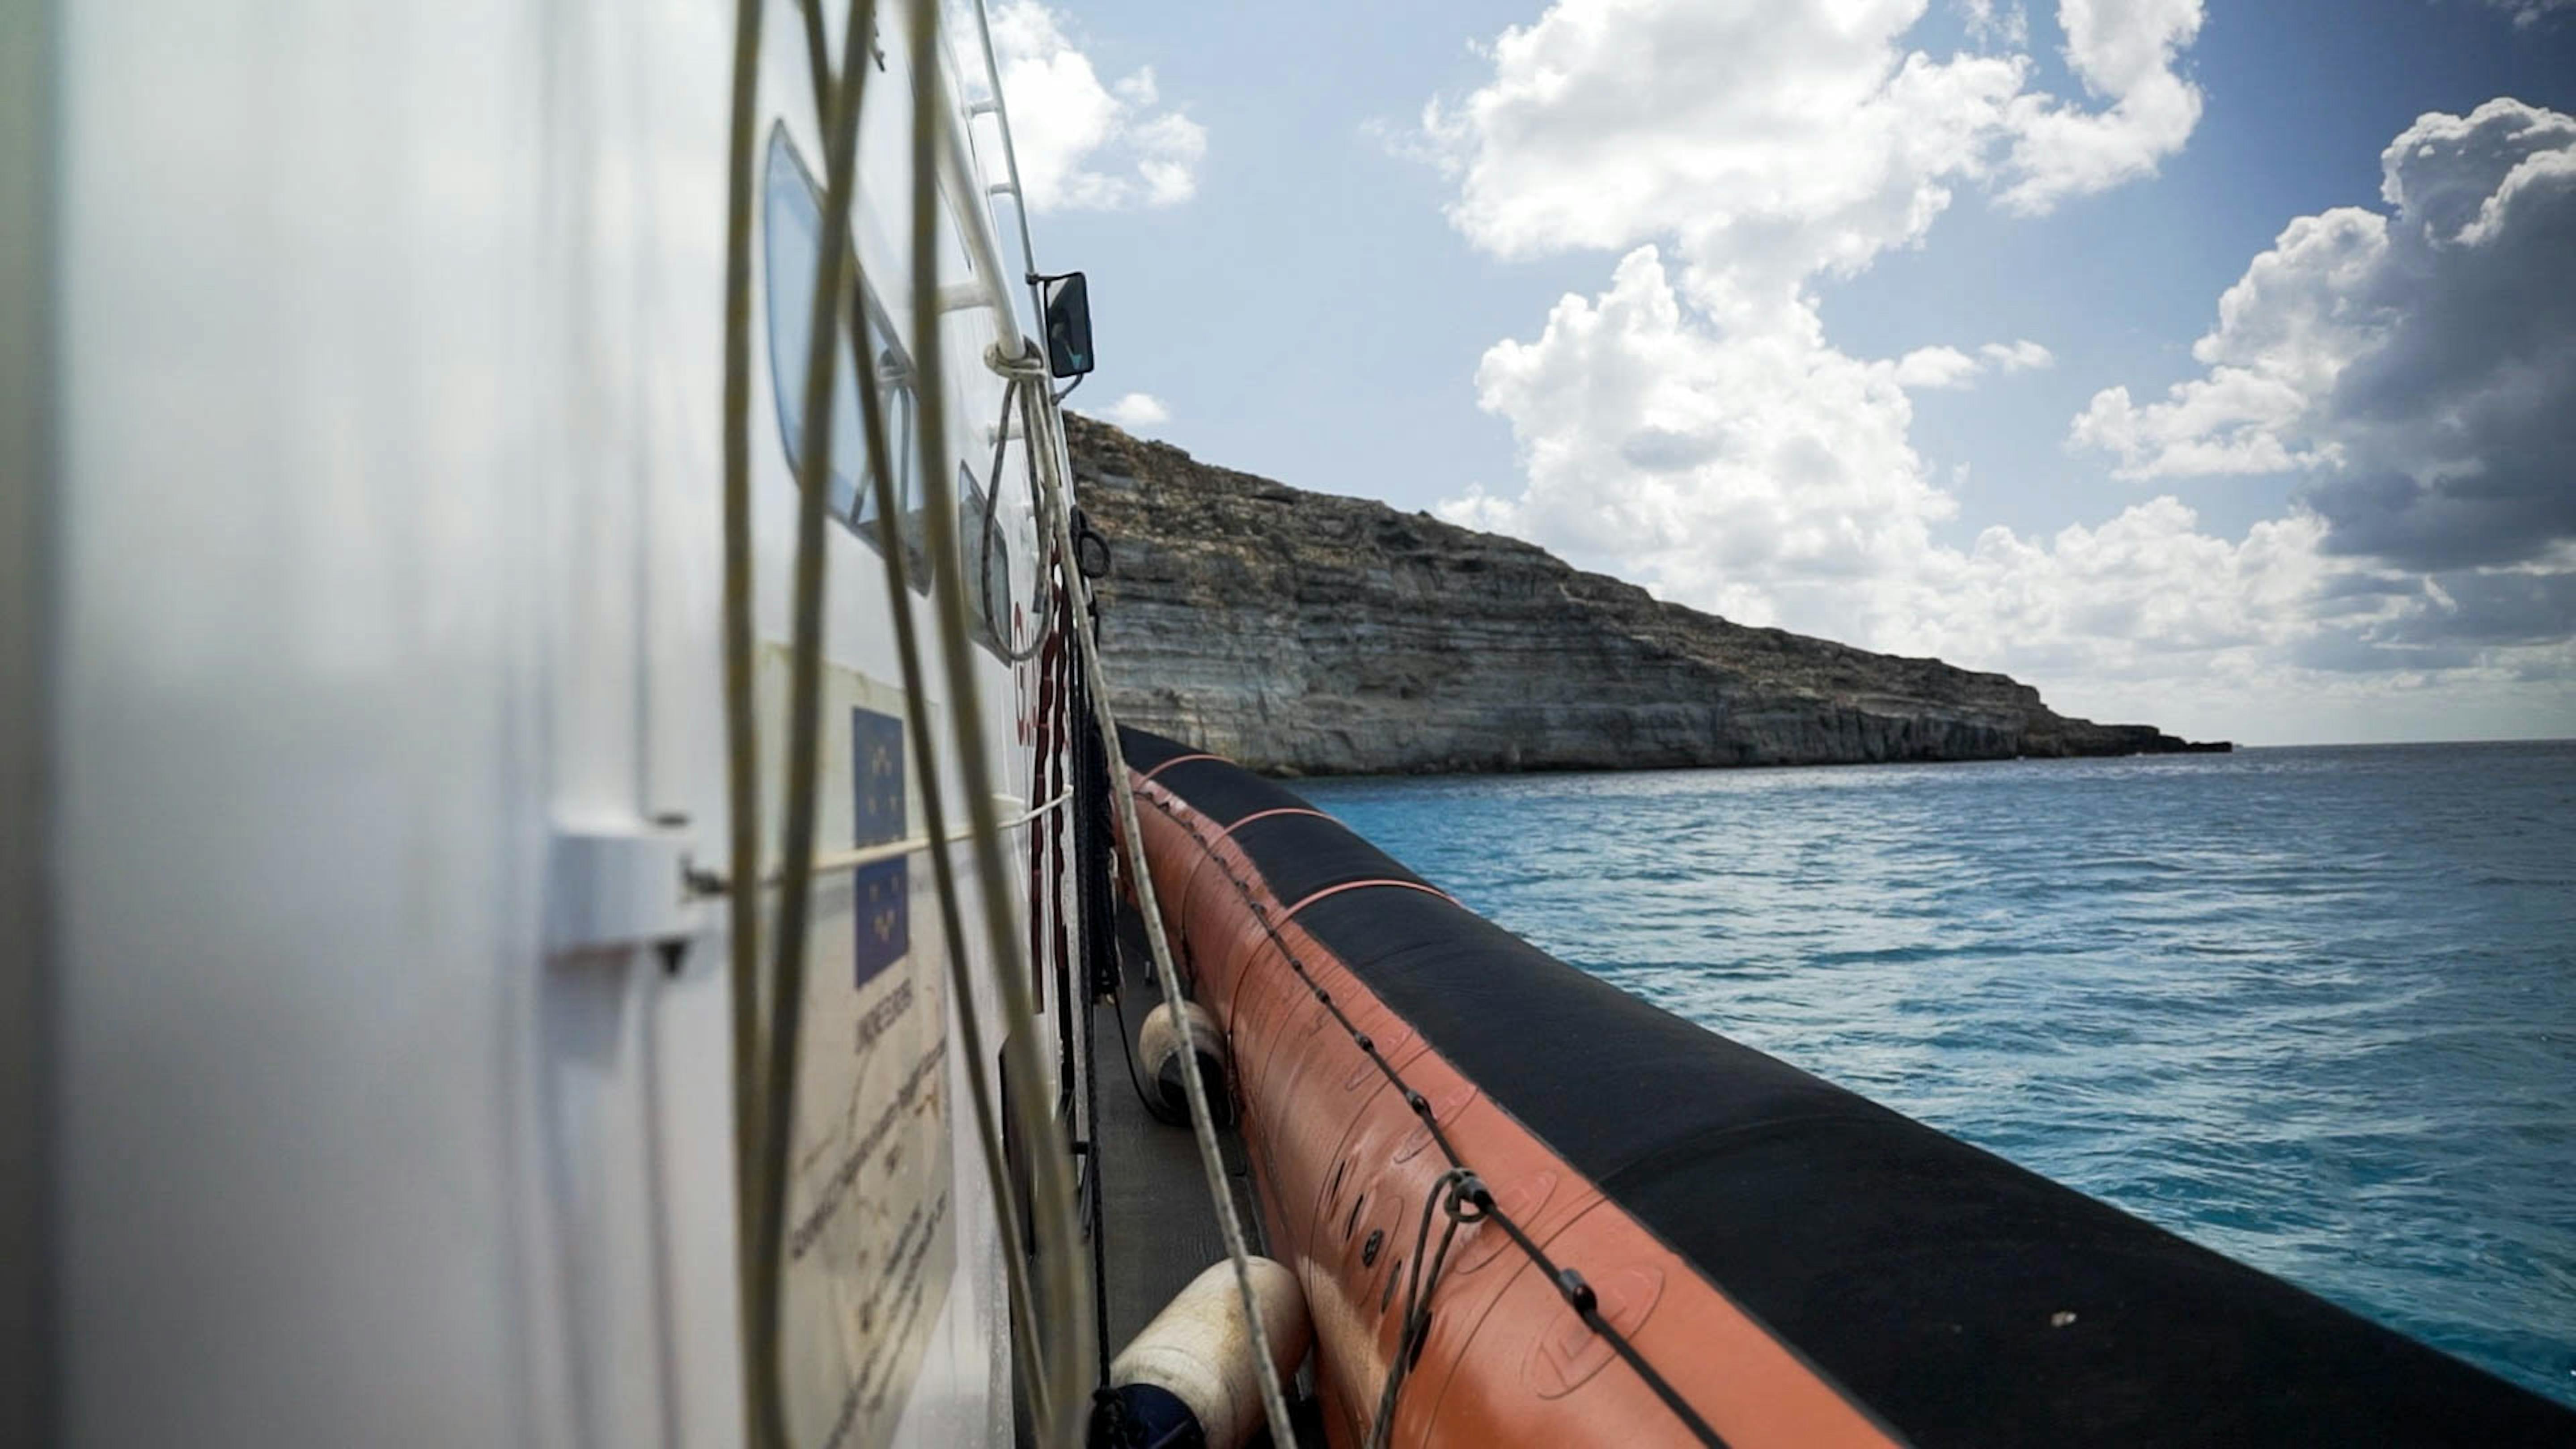
M1298 789L1646 1000L2576 1403L2576 743Z

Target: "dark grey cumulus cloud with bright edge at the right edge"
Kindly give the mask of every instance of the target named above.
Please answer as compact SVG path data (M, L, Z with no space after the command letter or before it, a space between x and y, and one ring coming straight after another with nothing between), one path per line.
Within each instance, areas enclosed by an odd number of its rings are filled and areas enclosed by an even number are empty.
M2488 101L2380 155L2388 211L2300 217L2218 302L2208 369L2071 441L2130 477L2303 469L2326 547L2406 570L2576 539L2576 119Z

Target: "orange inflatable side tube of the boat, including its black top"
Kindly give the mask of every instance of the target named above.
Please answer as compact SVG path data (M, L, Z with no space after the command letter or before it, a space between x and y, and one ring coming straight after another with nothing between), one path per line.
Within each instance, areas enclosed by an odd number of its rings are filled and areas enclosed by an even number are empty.
M1363 1444L2576 1439L2576 1415L1677 1021L1126 732ZM1388 1385L1394 1392L1388 1395Z

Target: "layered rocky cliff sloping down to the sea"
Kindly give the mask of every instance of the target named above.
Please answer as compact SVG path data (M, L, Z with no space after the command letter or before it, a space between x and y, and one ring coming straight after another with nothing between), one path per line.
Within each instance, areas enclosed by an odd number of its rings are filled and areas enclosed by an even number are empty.
M2027 683L1659 603L1546 549L1066 418L1121 719L1267 773L1814 766L2192 748Z

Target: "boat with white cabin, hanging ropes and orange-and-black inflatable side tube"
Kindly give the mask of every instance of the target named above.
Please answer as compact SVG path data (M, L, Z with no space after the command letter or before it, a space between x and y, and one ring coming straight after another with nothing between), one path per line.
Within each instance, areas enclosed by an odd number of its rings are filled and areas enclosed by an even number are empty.
M1121 730L981 0L10 36L0 1439L2576 1441Z

